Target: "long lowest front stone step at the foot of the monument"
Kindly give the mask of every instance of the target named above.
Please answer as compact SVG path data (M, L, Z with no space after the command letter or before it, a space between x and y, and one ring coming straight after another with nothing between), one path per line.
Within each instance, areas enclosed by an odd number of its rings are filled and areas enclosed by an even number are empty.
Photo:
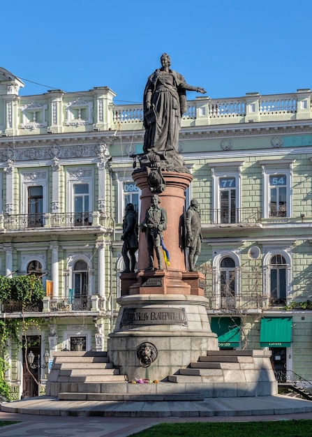
M201 393L59 393L60 401L203 401Z

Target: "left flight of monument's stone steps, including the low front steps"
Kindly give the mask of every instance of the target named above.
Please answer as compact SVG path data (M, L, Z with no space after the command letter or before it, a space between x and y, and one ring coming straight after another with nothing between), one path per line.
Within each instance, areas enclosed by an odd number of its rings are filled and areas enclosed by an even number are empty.
M176 383L132 384L107 352L56 352L47 396L63 401L202 401L203 394L174 390ZM181 387L179 387L181 388Z

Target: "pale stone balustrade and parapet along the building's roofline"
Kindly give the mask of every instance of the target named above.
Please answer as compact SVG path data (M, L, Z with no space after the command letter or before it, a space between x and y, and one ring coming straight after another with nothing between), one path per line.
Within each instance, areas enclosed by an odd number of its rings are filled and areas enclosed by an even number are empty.
M181 126L187 128L311 119L311 94L311 89L298 89L292 94L262 96L256 92L246 93L245 96L237 98L198 96L195 100L187 102L187 110L182 115ZM38 101L40 100L40 105L38 105L36 97L32 96L32 102L29 102L27 96L20 96L18 100L14 101L11 126L6 126L0 130L2 137L34 135L36 133L110 131L114 129L137 131L143 128L142 103L115 105L113 102L114 93L107 87L84 91L83 99L77 98L74 93L62 93L56 102L54 94L49 93L44 97L38 96ZM0 112L6 113L8 108L4 108L4 105L7 104L0 100ZM98 110L94 110L94 108L98 108ZM44 111L49 122L45 124L34 123L35 110L36 113ZM54 116L54 114L65 112L66 119Z

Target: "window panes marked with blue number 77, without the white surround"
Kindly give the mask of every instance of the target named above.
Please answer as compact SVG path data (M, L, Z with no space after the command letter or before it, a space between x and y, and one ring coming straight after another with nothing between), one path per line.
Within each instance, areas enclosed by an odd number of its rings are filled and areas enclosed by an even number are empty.
M220 223L237 223L236 178L219 179Z

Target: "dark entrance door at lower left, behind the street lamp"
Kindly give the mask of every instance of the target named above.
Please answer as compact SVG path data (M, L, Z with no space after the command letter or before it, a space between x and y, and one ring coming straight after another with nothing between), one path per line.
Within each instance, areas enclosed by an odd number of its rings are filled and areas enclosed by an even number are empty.
M27 348L25 348L25 341L23 341L23 399L27 397L38 396L38 383L36 383L36 380L38 380L38 369L31 369L31 366L29 366L29 364L27 369L26 365L27 356L25 356L25 352L28 355L30 351L35 355L34 364L37 364L38 355L40 355L41 351L40 336L27 336ZM34 380L34 378L36 378L36 380Z

